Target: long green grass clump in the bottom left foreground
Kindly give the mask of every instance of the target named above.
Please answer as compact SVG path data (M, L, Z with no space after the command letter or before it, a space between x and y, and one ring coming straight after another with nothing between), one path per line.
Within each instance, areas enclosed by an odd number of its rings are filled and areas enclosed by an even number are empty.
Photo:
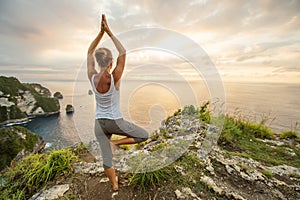
M50 154L32 154L15 168L8 170L0 187L0 199L28 199L48 181L69 173L77 159L70 149L54 150Z

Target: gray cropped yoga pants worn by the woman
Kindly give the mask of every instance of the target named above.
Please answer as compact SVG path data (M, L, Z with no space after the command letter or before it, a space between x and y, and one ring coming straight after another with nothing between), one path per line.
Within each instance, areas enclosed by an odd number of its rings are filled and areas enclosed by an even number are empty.
M136 143L148 139L148 132L145 129L126 120L96 119L95 135L100 144L104 168L111 168L113 166L110 148L110 138L112 134L133 138Z

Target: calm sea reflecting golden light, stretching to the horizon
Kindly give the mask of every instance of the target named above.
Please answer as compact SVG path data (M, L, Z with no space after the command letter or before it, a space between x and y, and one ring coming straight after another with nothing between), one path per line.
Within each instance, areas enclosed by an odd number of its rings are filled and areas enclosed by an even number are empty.
M52 94L60 91L60 114L38 117L24 124L41 135L48 147L68 147L88 143L94 136L94 94L88 81L45 81ZM125 80L121 83L123 118L144 127L150 134L179 108L199 107L210 101L214 114L230 114L254 122L264 122L276 133L300 131L300 84L204 81ZM65 107L72 104L73 114Z

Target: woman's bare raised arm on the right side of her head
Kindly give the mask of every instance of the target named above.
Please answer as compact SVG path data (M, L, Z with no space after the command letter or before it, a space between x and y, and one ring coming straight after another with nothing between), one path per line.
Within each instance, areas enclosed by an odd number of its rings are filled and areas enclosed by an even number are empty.
M120 85L119 81L120 81L120 79L122 77L122 74L123 74L123 71L124 71L124 67L125 67L126 49L123 47L123 45L121 44L121 42L111 32L110 28L108 27L108 24L107 24L105 16L103 16L102 20L103 20L103 28L104 28L105 32L112 39L114 45L116 46L116 48L117 48L117 50L119 52L116 67L115 67L114 71L112 72L113 77L114 77L114 81L115 81L115 84L116 84L116 87L118 88L119 85Z

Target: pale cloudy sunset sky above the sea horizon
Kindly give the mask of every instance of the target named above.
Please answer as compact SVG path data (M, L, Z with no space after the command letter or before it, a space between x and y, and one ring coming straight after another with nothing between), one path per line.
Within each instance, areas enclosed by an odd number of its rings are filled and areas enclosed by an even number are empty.
M0 0L0 74L33 82L74 80L104 13L124 41L127 70L156 63L162 71L173 67L184 76L196 74L181 51L131 47L147 29L157 28L201 47L224 81L298 84L299 10L298 0ZM167 36L147 37L150 44L178 45L197 54L184 39L181 44Z

